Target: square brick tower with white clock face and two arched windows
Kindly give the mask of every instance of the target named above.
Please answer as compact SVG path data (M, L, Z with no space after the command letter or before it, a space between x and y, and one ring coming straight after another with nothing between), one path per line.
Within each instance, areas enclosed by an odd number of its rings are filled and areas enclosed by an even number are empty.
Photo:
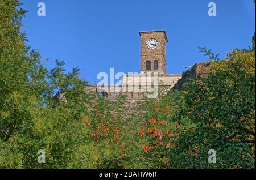
M141 35L141 72L158 72L166 74L165 31L143 31Z

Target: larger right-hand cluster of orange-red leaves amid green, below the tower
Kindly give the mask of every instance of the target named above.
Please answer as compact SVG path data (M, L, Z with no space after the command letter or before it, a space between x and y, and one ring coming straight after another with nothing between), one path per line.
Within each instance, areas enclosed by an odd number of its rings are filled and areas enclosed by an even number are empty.
M175 141L179 138L180 125L179 122L170 122L175 118L172 114L171 105L166 102L157 102L152 100L151 110L149 110L147 121L138 130L141 138L142 149L144 152L163 151L167 148L175 147ZM164 120L166 119L166 120ZM160 150L160 149L162 150Z

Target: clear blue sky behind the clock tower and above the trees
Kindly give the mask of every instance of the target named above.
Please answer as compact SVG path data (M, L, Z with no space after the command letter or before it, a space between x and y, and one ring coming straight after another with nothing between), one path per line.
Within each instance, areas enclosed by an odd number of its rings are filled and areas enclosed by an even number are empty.
M255 32L253 0L33 0L24 31L48 68L64 60L68 71L80 67L91 84L99 72L140 71L139 31L166 30L167 73L181 73L185 66L207 61L198 46L224 57L232 48L251 46ZM38 3L46 16L37 15ZM215 2L217 16L208 16Z

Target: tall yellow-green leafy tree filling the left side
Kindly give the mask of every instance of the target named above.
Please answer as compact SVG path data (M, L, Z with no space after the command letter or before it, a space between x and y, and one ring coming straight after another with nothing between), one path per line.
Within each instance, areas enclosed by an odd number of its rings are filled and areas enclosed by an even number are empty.
M43 67L20 30L25 13L18 0L0 1L0 167L72 167L88 138L86 82L78 68L66 74L62 61L50 71ZM56 100L57 91L65 92L67 103ZM46 164L36 161L39 149Z

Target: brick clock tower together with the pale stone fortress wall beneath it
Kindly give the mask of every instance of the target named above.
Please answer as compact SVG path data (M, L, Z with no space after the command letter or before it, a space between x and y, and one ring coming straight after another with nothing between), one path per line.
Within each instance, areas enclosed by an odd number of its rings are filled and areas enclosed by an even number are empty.
M126 96L126 109L139 109L135 102L144 98L157 98L160 92L166 95L174 87L182 75L166 74L166 32L143 31L139 32L139 35L141 74L123 74L120 85L87 85L87 92L100 92L102 97L111 101L123 95ZM158 72L158 75L153 72Z

